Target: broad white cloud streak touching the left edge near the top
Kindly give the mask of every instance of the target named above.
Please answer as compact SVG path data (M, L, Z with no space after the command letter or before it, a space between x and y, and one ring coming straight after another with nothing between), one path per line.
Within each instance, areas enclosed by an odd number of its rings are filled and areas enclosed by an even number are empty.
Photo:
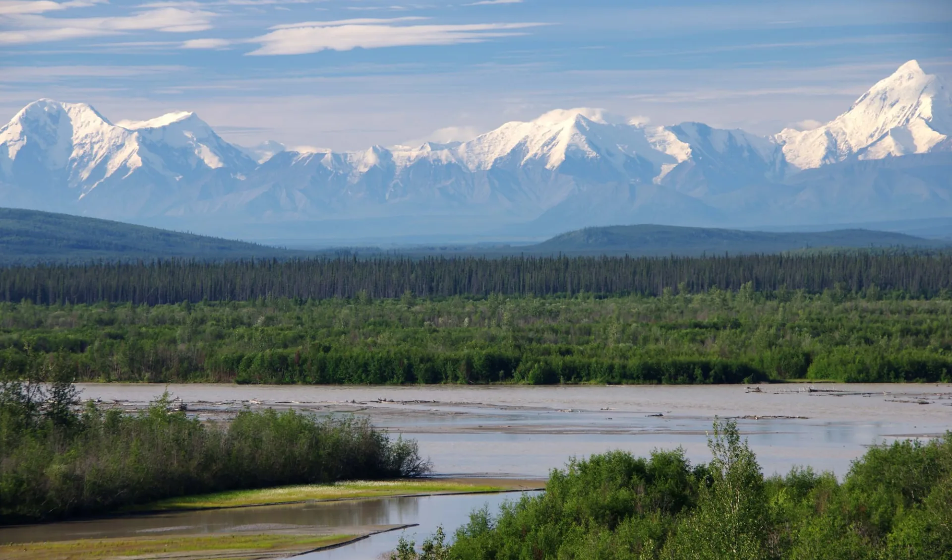
M159 8L111 17L46 17L37 14L7 18L12 30L0 31L0 44L40 43L81 37L114 35L129 31L203 31L211 28L215 13L206 10Z

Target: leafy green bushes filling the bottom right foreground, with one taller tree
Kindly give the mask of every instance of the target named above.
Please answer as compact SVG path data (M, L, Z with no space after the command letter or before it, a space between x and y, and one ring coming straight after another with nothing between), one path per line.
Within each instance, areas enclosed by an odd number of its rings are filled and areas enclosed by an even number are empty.
M402 541L394 560L899 560L952 558L952 433L871 448L843 483L794 469L764 478L733 422L712 459L681 450L571 460L545 493L476 510L447 543Z

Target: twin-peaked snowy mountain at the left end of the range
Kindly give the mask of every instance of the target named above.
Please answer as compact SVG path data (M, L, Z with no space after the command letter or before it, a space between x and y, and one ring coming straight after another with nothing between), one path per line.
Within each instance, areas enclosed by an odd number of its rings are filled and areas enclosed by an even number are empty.
M123 127L87 104L41 99L0 128L4 206L129 218L255 166L192 113Z

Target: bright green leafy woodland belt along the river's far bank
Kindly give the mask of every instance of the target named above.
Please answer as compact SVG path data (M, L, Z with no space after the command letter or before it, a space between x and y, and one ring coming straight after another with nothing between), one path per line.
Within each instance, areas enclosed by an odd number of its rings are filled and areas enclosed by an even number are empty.
M0 370L139 382L952 381L947 294L748 282L660 296L26 300L0 304Z

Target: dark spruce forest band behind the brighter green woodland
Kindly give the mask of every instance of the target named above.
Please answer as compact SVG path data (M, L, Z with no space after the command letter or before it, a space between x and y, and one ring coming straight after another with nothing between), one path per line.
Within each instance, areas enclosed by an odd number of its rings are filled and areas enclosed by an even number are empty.
M0 298L38 304L150 305L260 297L662 295L740 290L867 290L931 297L952 290L952 254L835 252L715 257L338 257L156 260L0 269Z

